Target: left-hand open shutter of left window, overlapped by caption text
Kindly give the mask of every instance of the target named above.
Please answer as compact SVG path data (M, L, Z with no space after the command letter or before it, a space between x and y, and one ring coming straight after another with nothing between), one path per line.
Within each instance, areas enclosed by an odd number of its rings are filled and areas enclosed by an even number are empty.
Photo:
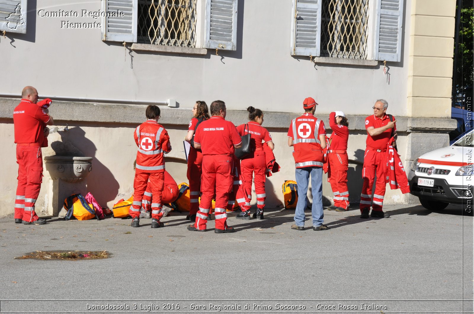
M125 15L102 17L102 40L137 42L138 0L102 0L102 11L123 12Z

